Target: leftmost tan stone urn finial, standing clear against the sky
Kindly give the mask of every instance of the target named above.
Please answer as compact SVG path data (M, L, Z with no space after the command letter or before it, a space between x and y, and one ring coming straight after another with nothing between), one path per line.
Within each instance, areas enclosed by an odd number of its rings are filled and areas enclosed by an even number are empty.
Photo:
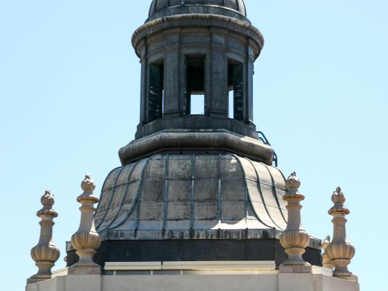
M39 268L37 274L28 279L28 283L36 283L51 279L51 268L60 258L60 249L53 242L53 219L58 213L53 209L54 196L46 190L41 200L43 208L37 211L41 218L39 242L31 249L31 256Z

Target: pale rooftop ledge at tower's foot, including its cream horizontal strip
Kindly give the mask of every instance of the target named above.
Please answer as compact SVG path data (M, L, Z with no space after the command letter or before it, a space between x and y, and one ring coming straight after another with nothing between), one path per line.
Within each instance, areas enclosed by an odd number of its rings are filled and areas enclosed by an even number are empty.
M282 274L273 265L271 261L107 263L103 276L69 275L64 269L53 279L27 284L26 291L360 291L357 281L337 279L323 267L312 266L309 274ZM162 266L167 270L152 270Z

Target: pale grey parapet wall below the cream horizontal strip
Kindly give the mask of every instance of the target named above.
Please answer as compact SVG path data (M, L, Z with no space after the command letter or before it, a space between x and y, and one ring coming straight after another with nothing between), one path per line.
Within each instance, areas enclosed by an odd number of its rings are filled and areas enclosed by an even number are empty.
M258 288L262 291L360 290L356 282L324 274L279 274L276 270L257 270L256 274L241 274L240 270L224 274L167 272L170 273L58 276L42 283L28 284L26 291L252 291Z

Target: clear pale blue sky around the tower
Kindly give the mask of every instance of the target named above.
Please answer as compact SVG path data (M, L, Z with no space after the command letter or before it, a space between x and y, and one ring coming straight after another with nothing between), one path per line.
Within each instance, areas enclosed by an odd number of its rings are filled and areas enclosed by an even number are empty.
M55 194L55 243L78 229L80 182L99 193L139 122L140 67L132 32L150 0L0 0L0 182L3 290L35 274L40 197ZM333 233L339 184L351 209L350 270L362 290L387 290L387 68L385 0L245 0L265 37L256 62L254 118L296 170L312 236ZM368 206L369 205L369 206Z

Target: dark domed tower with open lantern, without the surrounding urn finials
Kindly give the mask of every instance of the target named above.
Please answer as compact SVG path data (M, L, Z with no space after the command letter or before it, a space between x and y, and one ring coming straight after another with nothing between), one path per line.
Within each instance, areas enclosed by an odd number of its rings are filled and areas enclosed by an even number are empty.
M283 263L285 178L253 123L263 37L243 1L155 0L132 44L140 123L103 186L96 261ZM319 240L306 259L321 265Z

